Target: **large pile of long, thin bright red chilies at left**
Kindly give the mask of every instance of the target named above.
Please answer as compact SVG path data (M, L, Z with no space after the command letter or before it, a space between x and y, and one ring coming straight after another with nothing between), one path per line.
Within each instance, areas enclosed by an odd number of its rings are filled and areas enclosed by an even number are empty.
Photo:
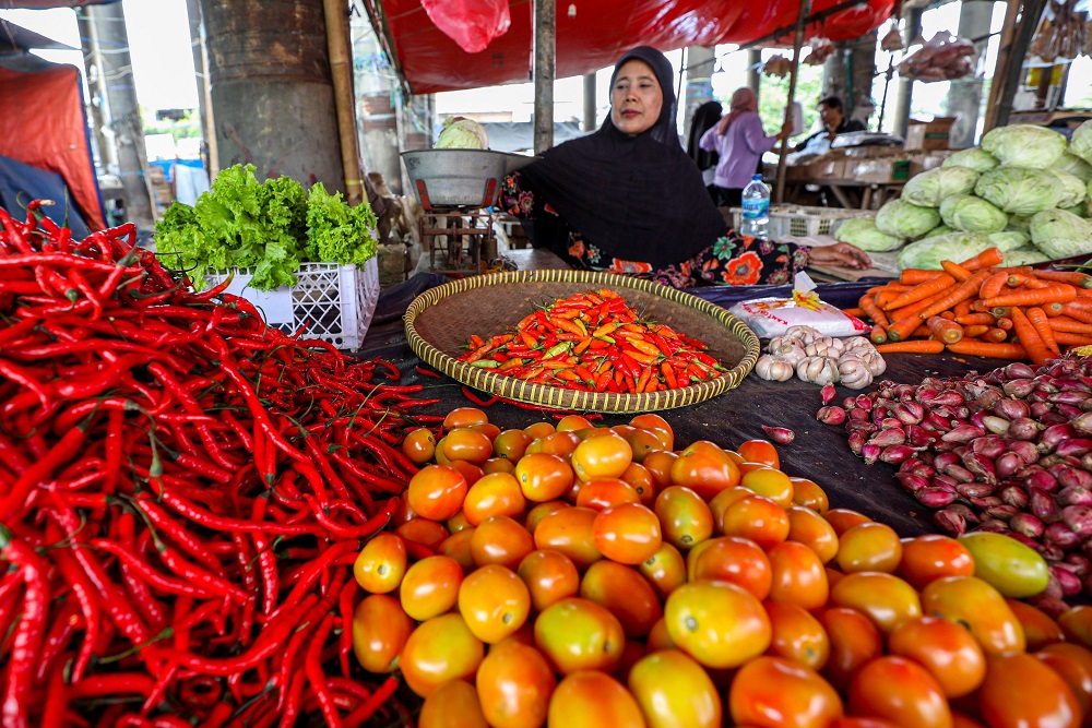
M0 210L0 724L401 719L352 563L435 401L39 205Z

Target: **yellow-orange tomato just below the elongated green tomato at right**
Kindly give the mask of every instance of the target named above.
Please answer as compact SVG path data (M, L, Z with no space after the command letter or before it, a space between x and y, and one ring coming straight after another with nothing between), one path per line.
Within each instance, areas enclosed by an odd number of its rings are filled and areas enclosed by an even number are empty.
M971 630L987 656L1023 652L1026 647L1020 620L1005 597L977 576L943 576L929 582L922 589L922 608L927 614Z

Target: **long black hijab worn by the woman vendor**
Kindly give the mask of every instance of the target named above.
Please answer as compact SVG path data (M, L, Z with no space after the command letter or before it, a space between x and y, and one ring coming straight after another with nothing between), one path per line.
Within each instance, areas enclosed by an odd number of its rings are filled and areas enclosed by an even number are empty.
M607 115L598 131L548 150L521 176L608 259L663 268L713 244L727 225L679 143L670 61L655 48L633 48L615 64L610 87L618 70L634 59L652 68L663 92L656 123L630 136Z

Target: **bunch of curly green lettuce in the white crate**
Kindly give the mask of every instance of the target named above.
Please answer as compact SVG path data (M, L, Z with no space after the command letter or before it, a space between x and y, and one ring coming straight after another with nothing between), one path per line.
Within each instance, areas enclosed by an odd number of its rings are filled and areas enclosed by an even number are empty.
M174 202L155 226L164 263L183 270L197 290L209 271L249 268L258 290L296 285L302 262L364 265L378 252L376 214L349 206L322 182L310 190L289 177L259 181L253 165L221 170L192 207Z

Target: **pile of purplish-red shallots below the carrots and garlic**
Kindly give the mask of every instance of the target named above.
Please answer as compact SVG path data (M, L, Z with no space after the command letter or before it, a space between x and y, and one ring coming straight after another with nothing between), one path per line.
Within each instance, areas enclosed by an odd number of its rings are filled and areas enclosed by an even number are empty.
M1006 533L1051 564L1048 598L1092 596L1092 357L833 395L818 419L844 423L869 465L898 465L940 528Z

